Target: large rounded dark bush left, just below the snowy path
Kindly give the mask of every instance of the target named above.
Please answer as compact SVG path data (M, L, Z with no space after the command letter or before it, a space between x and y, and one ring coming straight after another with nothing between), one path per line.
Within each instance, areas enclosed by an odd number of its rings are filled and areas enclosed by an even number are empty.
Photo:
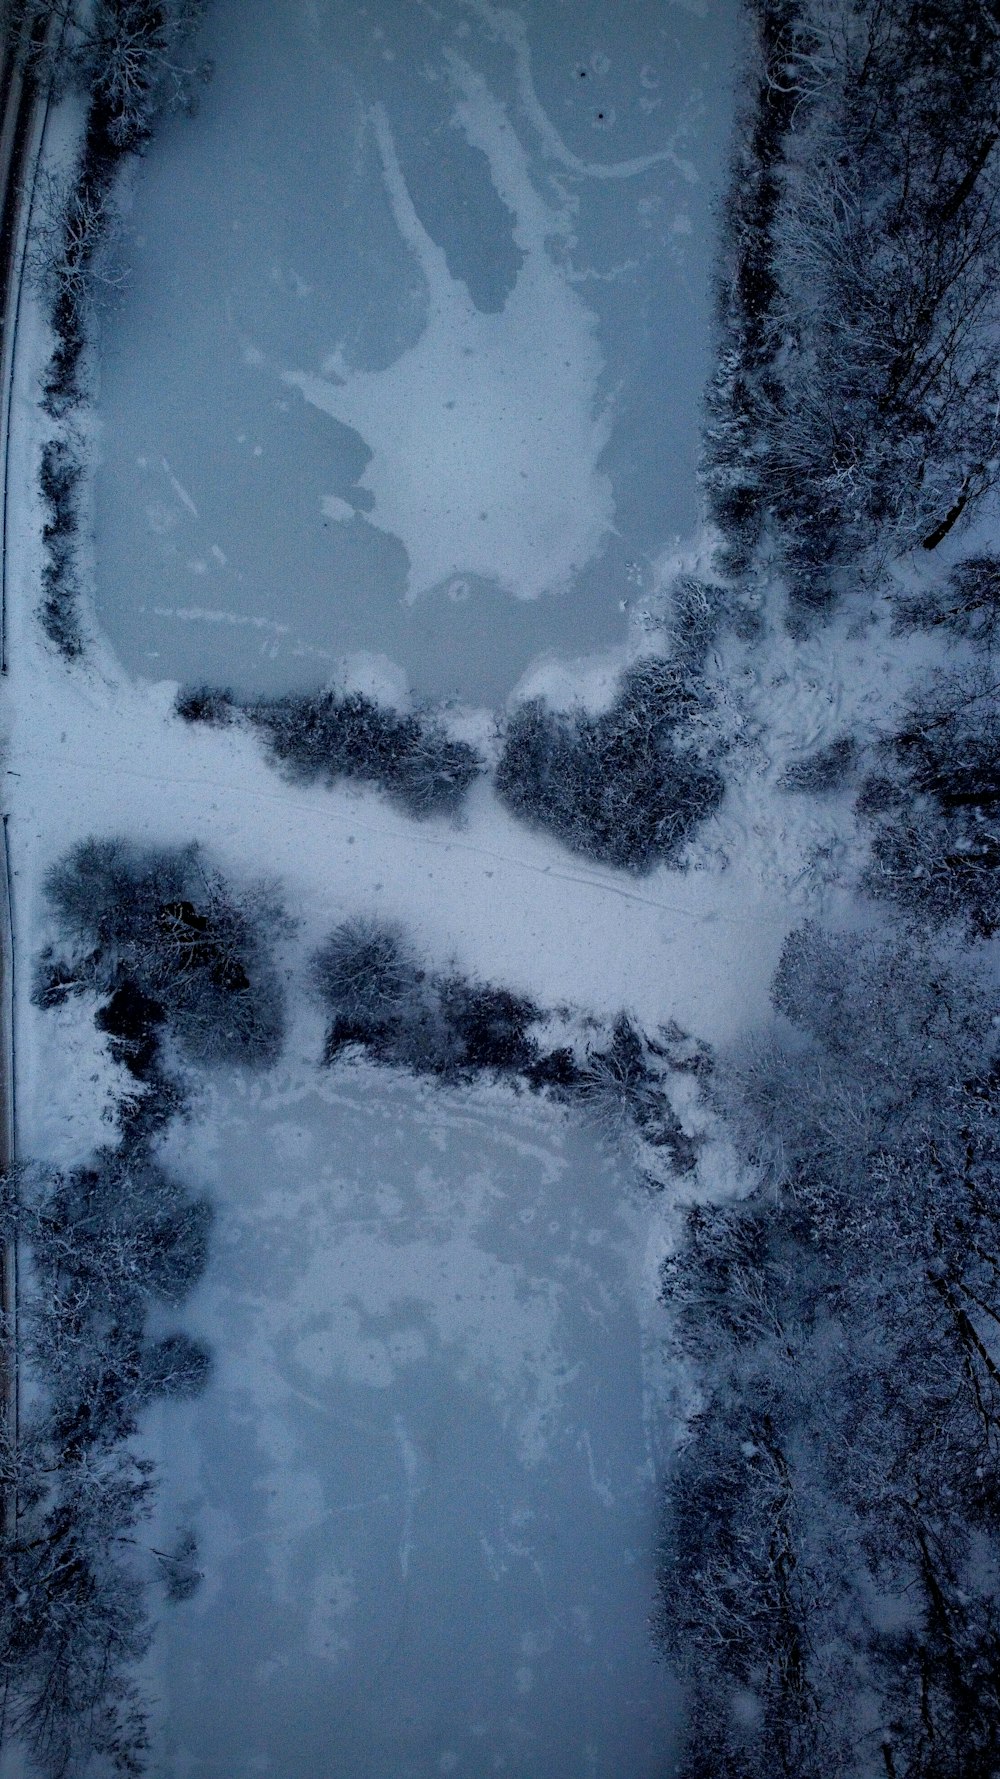
M162 1007L194 1060L274 1060L283 1005L270 941L286 923L270 891L235 897L198 847L87 840L53 866L46 893L64 950L43 957L41 1002L75 970L75 986L112 996L128 984L146 1002L146 1026Z

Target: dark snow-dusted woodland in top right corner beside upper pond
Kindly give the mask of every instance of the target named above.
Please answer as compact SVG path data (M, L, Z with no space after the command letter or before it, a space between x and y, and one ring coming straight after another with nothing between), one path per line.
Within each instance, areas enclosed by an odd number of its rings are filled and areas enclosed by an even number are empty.
M751 16L705 486L728 573L770 521L801 623L996 480L1000 39L973 0Z

